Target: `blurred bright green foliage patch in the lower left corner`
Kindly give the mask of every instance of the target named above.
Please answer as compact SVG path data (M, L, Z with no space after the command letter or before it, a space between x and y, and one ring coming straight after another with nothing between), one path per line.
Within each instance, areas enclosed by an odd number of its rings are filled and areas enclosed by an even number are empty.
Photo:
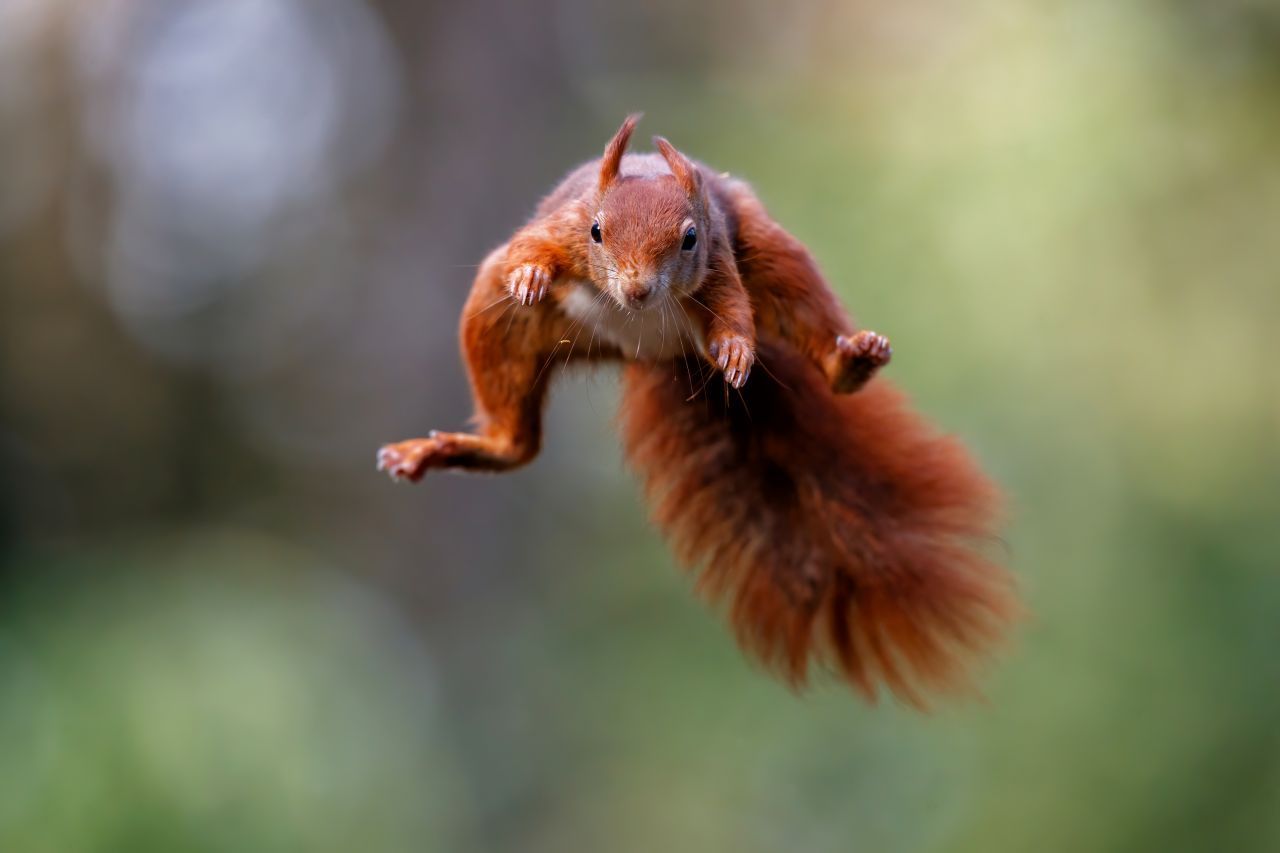
M454 838L420 644L384 602L300 562L186 534L17 584L0 634L0 848Z

